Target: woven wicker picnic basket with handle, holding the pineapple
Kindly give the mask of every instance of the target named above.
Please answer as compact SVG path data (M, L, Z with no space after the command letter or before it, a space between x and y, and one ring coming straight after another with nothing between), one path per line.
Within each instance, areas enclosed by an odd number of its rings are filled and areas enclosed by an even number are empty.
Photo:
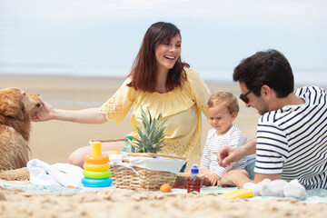
M134 145L128 139L116 139L116 140L93 140L98 142L118 142L118 141L128 141L130 144ZM164 157L169 159L177 159L183 160L184 158L167 155L167 154L153 154L153 153L130 153L127 156L124 156L122 161L123 163L129 163L131 157L144 157L144 158L156 158L156 157ZM109 158L110 159L110 158ZM110 161L110 160L109 160ZM149 169L133 166L134 170L128 167L124 167L123 165L113 165L111 164L110 170L112 172L111 177L113 179L114 185L117 188L124 189L134 189L134 190L159 190L160 186L163 183L168 183L173 187L173 183L176 180L178 173L170 173L164 171L152 171ZM137 173L135 173L136 171Z

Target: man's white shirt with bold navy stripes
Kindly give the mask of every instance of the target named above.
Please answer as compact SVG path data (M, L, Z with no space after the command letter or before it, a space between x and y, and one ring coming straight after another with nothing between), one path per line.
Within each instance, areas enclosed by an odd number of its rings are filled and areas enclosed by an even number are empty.
M306 189L327 189L327 93L317 86L294 92L305 104L263 114L257 125L255 173L298 179Z

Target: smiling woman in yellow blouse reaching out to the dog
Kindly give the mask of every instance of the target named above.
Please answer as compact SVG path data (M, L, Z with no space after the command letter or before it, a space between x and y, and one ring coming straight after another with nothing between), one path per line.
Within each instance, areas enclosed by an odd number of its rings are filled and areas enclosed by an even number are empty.
M134 60L133 70L124 84L100 108L77 111L56 109L44 103L33 115L33 121L51 119L83 124L103 124L114 120L120 124L133 107L131 125L141 124L141 106L153 116L163 114L165 138L163 154L175 154L188 160L191 154L201 153L202 113L207 115L206 103L210 91L200 75L181 61L180 30L170 23L151 25ZM121 150L122 143L104 144L103 151ZM69 162L82 166L84 155L91 154L91 146L78 148Z

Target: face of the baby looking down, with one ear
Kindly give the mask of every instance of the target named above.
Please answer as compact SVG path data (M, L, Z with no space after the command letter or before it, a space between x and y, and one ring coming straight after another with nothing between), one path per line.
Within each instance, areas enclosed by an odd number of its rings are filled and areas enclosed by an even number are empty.
M237 113L231 114L224 104L218 104L208 108L210 124L218 135L226 134L233 124Z

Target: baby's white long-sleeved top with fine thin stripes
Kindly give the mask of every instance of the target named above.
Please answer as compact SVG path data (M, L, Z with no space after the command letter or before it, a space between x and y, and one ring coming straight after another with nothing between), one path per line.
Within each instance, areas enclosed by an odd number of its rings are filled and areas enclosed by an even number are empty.
M215 129L211 129L208 132L203 148L200 168L210 169L211 173L216 173L221 178L223 177L223 173L231 169L243 170L246 163L244 158L238 162L231 163L231 165L227 167L222 167L218 164L216 154L223 146L236 148L245 144L246 138L242 131L236 124L233 124L226 134L218 135L216 132Z

